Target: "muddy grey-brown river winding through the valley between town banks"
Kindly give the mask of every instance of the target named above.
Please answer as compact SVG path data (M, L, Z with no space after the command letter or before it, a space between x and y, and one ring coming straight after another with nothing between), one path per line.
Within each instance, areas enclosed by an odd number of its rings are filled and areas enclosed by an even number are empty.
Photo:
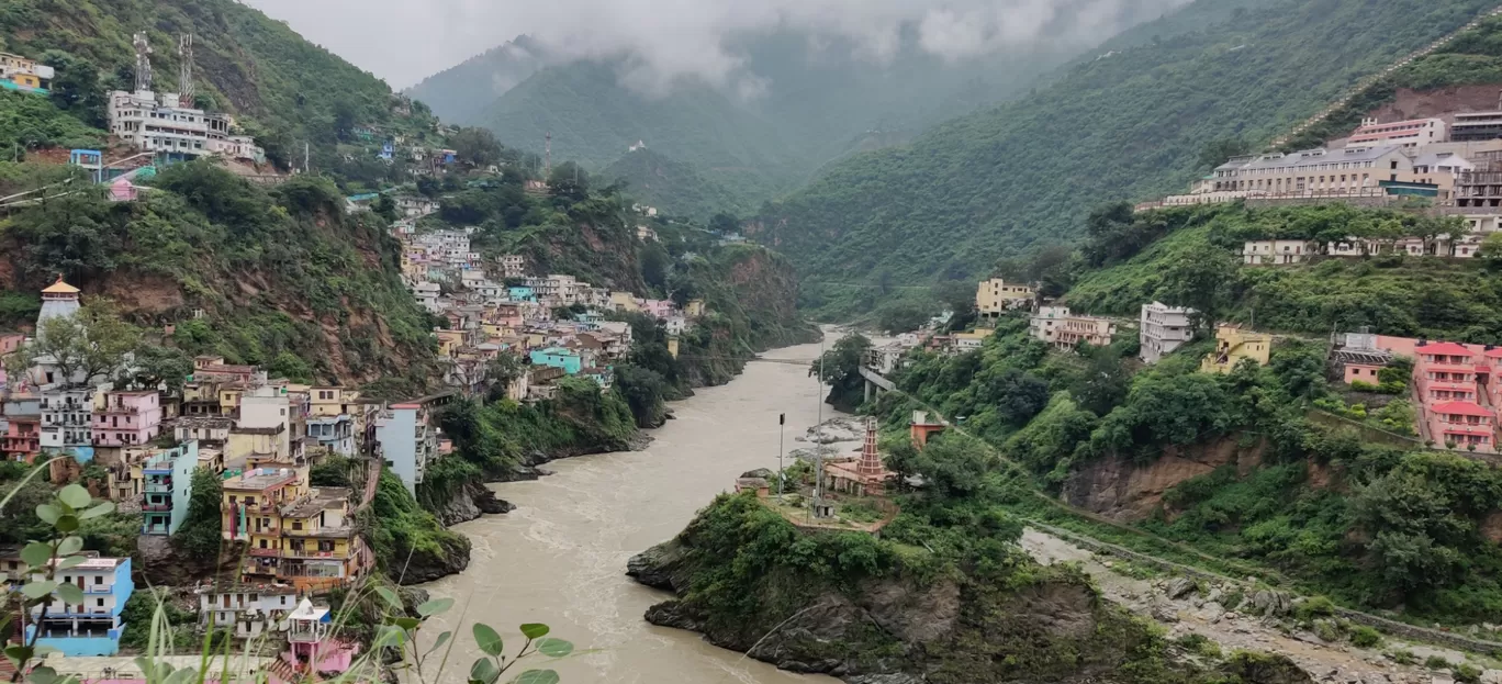
M831 337L832 340L832 337ZM774 359L813 359L819 344L768 352ZM784 446L817 422L820 386L805 365L751 362L728 385L697 389L673 404L677 419L653 430L644 451L586 455L550 463L554 475L491 486L517 504L454 529L473 544L469 570L425 585L457 606L424 633L463 624L445 681L463 681L475 658L469 624L482 621L521 643L517 625L547 622L553 636L593 652L550 664L563 684L810 684L828 676L795 675L704 643L697 633L641 619L668 594L625 576L626 559L683 529L734 478L777 468L778 413L787 413ZM832 410L823 407L825 418ZM532 660L532 658L529 658ZM542 663L542 660L536 660ZM523 661L523 666L529 664ZM517 670L506 675L511 676ZM505 679L503 679L505 681Z

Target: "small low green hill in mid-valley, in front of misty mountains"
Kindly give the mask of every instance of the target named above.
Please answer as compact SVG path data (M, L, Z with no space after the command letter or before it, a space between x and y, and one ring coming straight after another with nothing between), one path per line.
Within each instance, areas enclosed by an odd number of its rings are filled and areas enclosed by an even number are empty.
M709 177L691 164L671 159L650 149L626 152L599 174L626 183L626 194L658 210L707 221L719 212L745 213L756 203Z

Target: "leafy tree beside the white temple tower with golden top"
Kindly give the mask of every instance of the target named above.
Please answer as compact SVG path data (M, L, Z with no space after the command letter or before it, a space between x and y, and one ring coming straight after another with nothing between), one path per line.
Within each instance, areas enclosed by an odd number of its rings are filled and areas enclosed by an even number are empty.
M141 331L120 320L113 304L93 301L72 316L44 320L36 341L15 352L6 367L32 368L45 359L56 368L54 382L92 383L125 370L140 340Z

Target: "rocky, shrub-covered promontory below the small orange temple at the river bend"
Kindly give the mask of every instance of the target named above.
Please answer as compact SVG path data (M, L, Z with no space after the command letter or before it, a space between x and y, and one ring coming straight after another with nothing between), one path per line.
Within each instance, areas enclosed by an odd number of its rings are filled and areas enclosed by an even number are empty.
M783 537L787 529L780 526L789 523L760 508L746 496L716 499L676 540L632 558L629 576L676 594L647 609L646 619L700 631L710 643L783 669L852 684L1271 681L1179 663L1160 636L1101 598L1083 573L1020 555L1005 568L850 576L829 568L840 562L837 555L861 549L861 540L793 532L781 541L805 558L832 553L816 561L828 565L769 562L760 556L762 543ZM762 532L739 538L746 529ZM730 553L727 534L737 537ZM716 594L725 586L733 589Z

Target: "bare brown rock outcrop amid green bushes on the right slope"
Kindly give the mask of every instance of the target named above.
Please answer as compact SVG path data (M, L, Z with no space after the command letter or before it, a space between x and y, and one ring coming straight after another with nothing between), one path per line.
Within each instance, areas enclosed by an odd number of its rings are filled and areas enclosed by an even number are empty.
M1238 436L1188 446L1167 446L1152 462L1113 454L1075 469L1063 483L1062 498L1071 505L1116 520L1142 520L1163 505L1164 492L1223 466L1248 474L1262 463L1263 443L1239 445ZM1173 517L1173 511L1166 511Z

